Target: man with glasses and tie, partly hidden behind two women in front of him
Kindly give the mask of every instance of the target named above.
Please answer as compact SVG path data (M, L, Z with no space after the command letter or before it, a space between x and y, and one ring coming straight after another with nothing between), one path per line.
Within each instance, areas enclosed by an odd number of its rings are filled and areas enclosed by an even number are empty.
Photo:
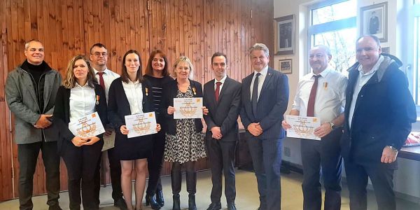
M92 67L94 68L94 74L99 82L99 85L102 86L105 90L106 94L106 101L108 102L108 92L109 86L116 78L119 78L120 75L109 70L106 67L106 63L108 62L108 50L106 50L105 45L102 43L95 43L90 48L90 61L92 63ZM120 160L114 154L113 148L105 148L107 145L114 144L115 141L115 132L111 126L105 126L106 132L104 134L104 149L107 149L108 159L109 159L109 169L111 174L111 184L112 184L112 198L114 200L114 206L119 207L120 209L127 208L127 204L125 204L125 200L123 198L123 190L121 190L121 164ZM102 158L101 158L102 159ZM100 160L101 160L100 159ZM99 174L99 164L97 168L97 188L100 188L100 174ZM96 192L99 193L99 190ZM99 200L99 194L97 195Z

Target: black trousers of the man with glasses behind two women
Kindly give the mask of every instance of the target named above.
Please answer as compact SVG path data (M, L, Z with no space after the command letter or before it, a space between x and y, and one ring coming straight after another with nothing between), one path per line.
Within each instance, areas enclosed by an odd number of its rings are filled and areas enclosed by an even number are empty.
M117 154L114 151L114 148L110 148L107 151L101 153L101 157L99 157L97 169L95 172L95 188L96 192L98 193L97 197L99 199L99 190L101 188L101 160L103 153L108 154L109 160L109 174L111 176L111 186L112 186L112 199L116 202L119 199L123 198L123 190L121 189L121 162L118 159ZM99 200L98 200L99 202Z

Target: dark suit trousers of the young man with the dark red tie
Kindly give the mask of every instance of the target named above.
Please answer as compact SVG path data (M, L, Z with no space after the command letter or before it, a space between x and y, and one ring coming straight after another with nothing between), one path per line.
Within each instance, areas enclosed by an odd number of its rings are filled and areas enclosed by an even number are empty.
M236 141L221 141L207 138L211 167L211 202L220 203L222 196L222 173L225 176L225 196L228 203L235 203L235 149Z

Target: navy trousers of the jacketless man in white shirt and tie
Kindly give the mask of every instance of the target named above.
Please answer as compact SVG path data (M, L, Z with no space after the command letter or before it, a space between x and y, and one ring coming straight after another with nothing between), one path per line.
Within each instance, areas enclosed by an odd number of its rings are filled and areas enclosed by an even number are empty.
M300 152L303 167L303 209L321 210L320 175L325 188L325 210L341 207L342 156L339 139L342 130L335 129L321 141L302 139ZM321 173L320 173L321 172Z

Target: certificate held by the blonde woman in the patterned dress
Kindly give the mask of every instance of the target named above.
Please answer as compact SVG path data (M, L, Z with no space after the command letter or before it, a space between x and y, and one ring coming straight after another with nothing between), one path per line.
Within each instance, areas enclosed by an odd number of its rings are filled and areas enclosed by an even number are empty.
M203 98L174 98L174 119L203 118Z

